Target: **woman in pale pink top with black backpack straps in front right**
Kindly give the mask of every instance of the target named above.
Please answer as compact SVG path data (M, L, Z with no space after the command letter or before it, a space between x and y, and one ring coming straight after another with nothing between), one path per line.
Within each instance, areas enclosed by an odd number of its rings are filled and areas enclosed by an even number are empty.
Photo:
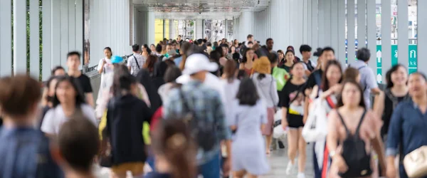
M342 84L337 108L328 115L327 149L332 157L330 177L375 177L375 151L386 170L381 142L381 120L367 109L359 83Z

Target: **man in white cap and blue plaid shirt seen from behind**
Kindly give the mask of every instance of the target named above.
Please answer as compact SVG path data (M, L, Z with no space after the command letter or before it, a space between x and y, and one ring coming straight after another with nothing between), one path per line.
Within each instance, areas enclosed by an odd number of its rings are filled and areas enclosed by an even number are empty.
M199 173L204 178L220 177L221 141L227 141L227 154L231 152L229 142L231 132L226 126L221 96L217 90L204 84L210 78L209 72L216 70L218 64L211 63L207 56L200 53L192 54L186 59L182 71L181 81L185 81L184 85L171 90L169 98L164 103L165 118L181 118L191 114L189 121L191 134L199 145L197 164ZM224 169L229 169L229 165L228 159Z

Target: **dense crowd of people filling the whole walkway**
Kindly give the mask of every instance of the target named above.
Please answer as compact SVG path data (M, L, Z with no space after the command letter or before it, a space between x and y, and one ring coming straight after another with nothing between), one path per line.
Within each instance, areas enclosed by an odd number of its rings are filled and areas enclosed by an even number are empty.
M78 52L43 88L0 78L0 177L95 177L98 164L118 178L254 178L285 147L298 178L307 147L316 178L427 177L426 75L396 65L380 90L367 48L346 66L330 47L273 47L179 36L135 44L126 63L106 47L96 100Z

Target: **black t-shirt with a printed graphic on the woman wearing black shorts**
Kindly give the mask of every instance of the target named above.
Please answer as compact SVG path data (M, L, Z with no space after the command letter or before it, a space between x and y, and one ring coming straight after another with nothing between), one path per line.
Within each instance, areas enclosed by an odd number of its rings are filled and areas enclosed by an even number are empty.
M304 115L304 88L305 83L295 85L288 81L282 90L281 104L282 107L288 108L288 120L302 120ZM296 97L296 98L295 98Z

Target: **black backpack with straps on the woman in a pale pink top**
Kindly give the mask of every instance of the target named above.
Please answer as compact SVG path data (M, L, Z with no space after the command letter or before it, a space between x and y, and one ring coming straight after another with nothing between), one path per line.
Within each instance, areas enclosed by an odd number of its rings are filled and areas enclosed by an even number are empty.
M349 129L344 123L342 116L338 113L339 119L347 132L347 138L342 142L342 158L349 169L347 172L339 172L340 177L367 177L372 174L371 154L367 153L365 142L359 137L360 125L364 120L367 110L364 110L362 118L357 125L354 135L350 134Z

